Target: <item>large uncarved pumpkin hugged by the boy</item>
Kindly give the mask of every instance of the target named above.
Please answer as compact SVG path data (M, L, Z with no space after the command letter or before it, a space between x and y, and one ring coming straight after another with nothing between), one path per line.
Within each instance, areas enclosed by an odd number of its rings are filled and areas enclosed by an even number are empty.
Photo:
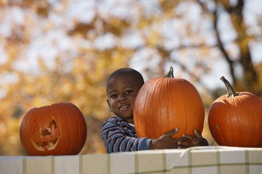
M133 106L138 137L159 138L178 128L173 138L203 131L205 112L196 87L182 78L174 78L173 67L165 77L151 78L140 88Z

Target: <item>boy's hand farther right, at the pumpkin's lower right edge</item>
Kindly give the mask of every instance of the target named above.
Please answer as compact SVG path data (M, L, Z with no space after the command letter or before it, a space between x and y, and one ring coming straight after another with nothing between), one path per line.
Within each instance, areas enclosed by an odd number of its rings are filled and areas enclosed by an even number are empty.
M189 141L180 141L177 143L178 148L187 148L187 147L194 147L194 146L205 146L207 145L205 143L204 138L201 136L201 133L194 130L195 136L189 136L187 134L184 134L183 137L187 138Z

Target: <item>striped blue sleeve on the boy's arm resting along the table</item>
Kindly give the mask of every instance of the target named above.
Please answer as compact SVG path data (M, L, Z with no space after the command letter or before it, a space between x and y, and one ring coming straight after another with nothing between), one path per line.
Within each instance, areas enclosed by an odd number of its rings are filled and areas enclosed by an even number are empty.
M103 124L101 136L107 153L149 150L152 141L152 139L132 137L121 126L113 122Z

